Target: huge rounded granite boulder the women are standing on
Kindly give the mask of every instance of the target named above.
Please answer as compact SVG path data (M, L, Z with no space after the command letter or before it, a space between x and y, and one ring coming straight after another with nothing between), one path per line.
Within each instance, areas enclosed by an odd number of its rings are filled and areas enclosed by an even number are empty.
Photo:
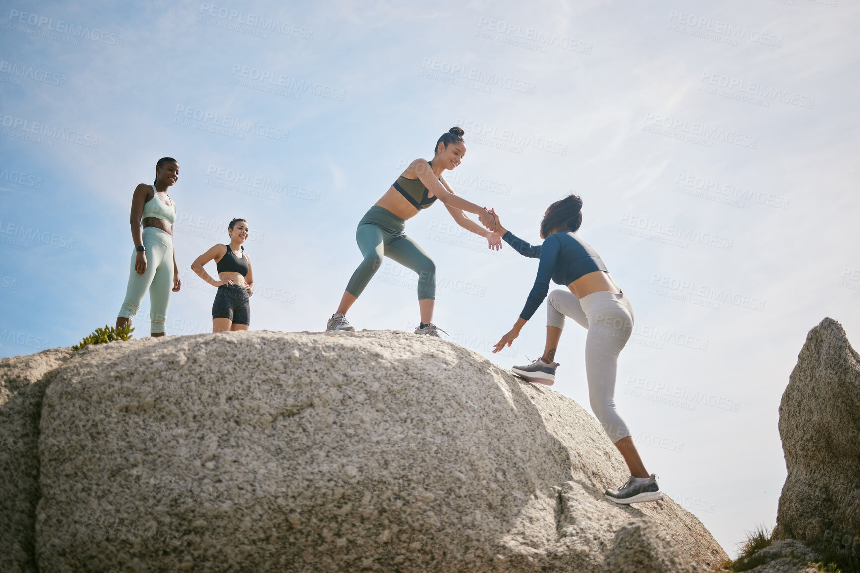
M43 572L602 573L636 546L681 563L669 539L697 570L727 558L671 499L602 498L628 472L579 405L438 338L90 347L40 428Z

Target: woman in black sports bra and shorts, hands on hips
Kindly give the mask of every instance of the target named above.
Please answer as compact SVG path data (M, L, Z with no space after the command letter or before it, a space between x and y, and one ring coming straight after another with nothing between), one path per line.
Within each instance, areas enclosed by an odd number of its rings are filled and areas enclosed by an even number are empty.
M254 294L254 273L251 259L244 253L242 243L248 239L248 222L233 219L227 226L230 243L215 245L191 264L197 276L218 287L212 303L212 332L248 330L251 327L250 296ZM215 261L218 278L210 277L203 265Z

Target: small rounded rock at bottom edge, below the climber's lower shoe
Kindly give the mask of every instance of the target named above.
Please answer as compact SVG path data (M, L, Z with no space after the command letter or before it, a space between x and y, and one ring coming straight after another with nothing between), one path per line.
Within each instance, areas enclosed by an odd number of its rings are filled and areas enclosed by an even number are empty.
M695 565L675 549L651 519L628 521L615 533L604 560L605 573L691 573Z

